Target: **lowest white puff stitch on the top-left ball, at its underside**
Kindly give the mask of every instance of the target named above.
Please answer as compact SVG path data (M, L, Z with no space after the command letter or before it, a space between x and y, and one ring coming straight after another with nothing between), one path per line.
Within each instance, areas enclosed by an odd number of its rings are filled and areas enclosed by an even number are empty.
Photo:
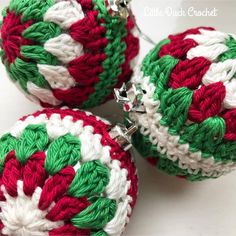
M29 93L39 98L39 100L42 102L48 103L53 106L58 106L62 103L57 98L55 98L51 90L40 88L31 81L27 82L27 89Z

